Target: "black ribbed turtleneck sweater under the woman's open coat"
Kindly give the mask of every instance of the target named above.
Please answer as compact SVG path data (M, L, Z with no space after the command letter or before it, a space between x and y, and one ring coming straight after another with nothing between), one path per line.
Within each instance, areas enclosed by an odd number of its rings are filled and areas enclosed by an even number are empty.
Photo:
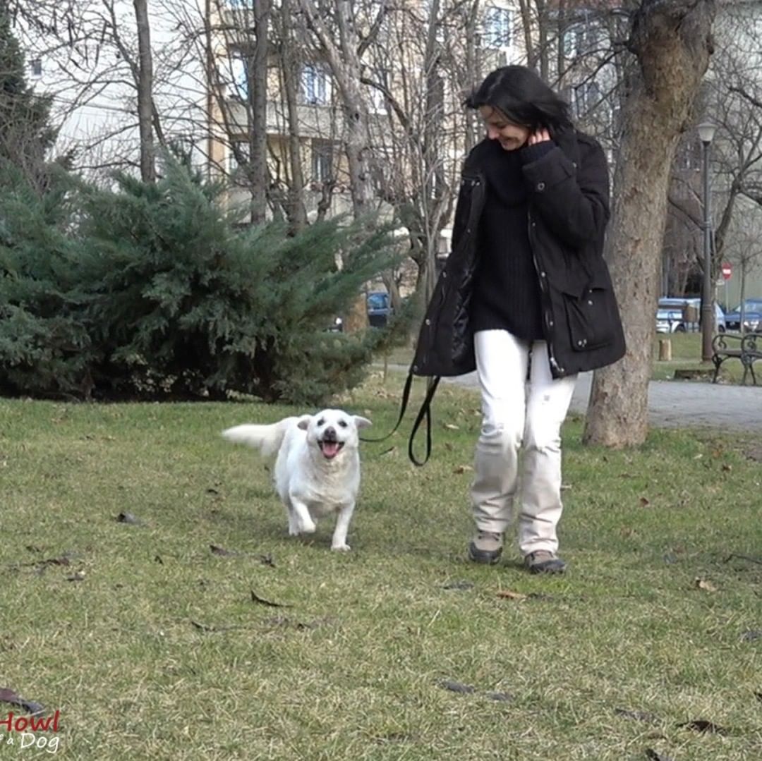
M543 339L522 167L554 146L546 141L506 151L497 140L491 141L491 152L482 165L486 198L479 220L479 264L471 301L473 331L499 329L527 341Z

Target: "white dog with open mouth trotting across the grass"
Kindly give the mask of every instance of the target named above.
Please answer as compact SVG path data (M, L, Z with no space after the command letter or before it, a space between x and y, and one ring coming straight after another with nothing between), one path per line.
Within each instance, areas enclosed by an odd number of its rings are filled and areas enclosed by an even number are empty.
M223 431L267 458L276 456L275 491L286 506L290 536L315 531L315 520L338 513L331 549L348 550L347 530L360 488L357 430L370 420L342 410L286 417L271 425L239 425Z

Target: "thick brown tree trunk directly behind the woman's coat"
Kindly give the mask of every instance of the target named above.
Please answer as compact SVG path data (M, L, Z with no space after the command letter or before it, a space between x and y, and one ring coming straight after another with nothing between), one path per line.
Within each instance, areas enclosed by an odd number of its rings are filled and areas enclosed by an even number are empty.
M634 446L648 432L670 168L709 64L714 16L713 0L643 0L633 17L629 48L638 69L625 104L607 238L627 352L594 375L585 443Z

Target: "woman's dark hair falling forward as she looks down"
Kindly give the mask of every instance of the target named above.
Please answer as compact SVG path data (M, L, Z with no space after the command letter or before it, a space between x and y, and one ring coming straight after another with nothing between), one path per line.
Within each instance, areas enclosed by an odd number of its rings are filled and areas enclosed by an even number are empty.
M487 75L466 106L491 106L514 123L555 132L571 126L568 104L526 66L503 66Z

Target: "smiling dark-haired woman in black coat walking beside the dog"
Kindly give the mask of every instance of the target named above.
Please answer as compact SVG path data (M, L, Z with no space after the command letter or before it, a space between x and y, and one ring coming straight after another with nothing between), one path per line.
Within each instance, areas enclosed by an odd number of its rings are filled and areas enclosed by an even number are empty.
M486 137L463 166L452 253L412 372L479 376L471 560L498 561L515 510L526 567L562 573L561 425L577 373L625 351L602 257L607 161L524 66L491 72L466 105Z

